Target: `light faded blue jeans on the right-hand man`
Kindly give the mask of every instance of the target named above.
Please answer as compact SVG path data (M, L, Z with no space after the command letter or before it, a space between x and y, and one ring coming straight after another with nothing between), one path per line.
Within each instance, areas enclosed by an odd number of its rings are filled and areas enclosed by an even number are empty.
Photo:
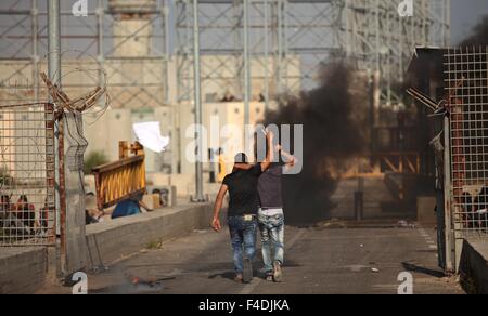
M284 216L277 214L266 216L259 214L259 229L261 232L262 261L266 273L273 271L273 262L283 264L284 256Z

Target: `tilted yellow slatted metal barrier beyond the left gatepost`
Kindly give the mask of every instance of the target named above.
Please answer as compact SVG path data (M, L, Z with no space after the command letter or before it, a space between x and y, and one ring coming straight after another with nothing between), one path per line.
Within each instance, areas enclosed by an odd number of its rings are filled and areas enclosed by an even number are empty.
M136 153L127 157L128 152ZM145 163L142 146L120 142L120 160L93 168L99 210L145 193ZM125 158L123 158L125 157Z

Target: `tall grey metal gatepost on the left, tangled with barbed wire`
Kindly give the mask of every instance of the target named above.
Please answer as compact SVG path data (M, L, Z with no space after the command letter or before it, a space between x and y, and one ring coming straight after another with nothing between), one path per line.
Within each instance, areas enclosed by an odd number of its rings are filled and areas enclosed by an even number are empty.
M53 84L62 87L61 64L61 8L60 0L48 0L48 31L49 31L49 77ZM73 152L73 135L76 131L82 137L81 115L65 113L61 105L55 110L62 111L56 129L56 210L59 210L60 245L57 260L57 275L66 278L70 274L86 267L85 239L85 194L81 157L69 157ZM75 129L76 127L76 129ZM75 150L78 152L78 148ZM73 154L72 154L73 156ZM76 160L70 163L70 160ZM77 164L77 167L70 167Z

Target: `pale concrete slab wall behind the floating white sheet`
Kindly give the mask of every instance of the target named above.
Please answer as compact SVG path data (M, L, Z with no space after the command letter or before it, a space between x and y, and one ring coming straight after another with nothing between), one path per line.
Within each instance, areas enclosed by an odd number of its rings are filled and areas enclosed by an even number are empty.
M204 104L204 127L207 130L204 147L205 157L207 158L207 149L217 150L223 148L224 159L227 163L227 173L232 169L233 157L236 153L243 152L242 136L244 134L244 104L242 102L232 103L207 103ZM249 109L251 123L256 123L265 118L265 104L253 102ZM194 123L194 113L192 104L181 104L178 109L171 107L156 107L145 109L111 109L101 118L97 119L97 115L86 115L85 119L85 136L88 140L87 154L93 152L103 152L110 161L118 159L118 142L136 140L132 132L132 124L142 121L159 121L162 134L170 137L170 144L163 154L155 154L145 150L146 171L163 173L181 173L174 180L178 183L187 182L192 186L195 166L187 156L194 156L193 133L187 130ZM211 128L214 126L214 129ZM234 127L234 129L223 129L224 127ZM216 134L217 142L213 142L211 135ZM252 154L252 153L248 153ZM215 166L214 166L215 167ZM204 169L213 168L210 163L204 163ZM208 173L206 173L208 174ZM192 179L187 181L187 179ZM205 179L208 181L208 177ZM168 183L168 185L177 185ZM194 185L194 184L193 184ZM183 194L189 189L184 185L178 186L178 192Z

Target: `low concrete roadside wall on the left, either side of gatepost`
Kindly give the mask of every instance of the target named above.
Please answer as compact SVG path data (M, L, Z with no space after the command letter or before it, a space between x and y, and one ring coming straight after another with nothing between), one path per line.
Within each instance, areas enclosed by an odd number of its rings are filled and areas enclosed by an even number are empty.
M88 268L108 265L150 242L209 227L211 213L210 203L194 203L88 225ZM55 262L49 262L47 248L0 248L0 294L36 292L49 278L48 268L55 271Z

